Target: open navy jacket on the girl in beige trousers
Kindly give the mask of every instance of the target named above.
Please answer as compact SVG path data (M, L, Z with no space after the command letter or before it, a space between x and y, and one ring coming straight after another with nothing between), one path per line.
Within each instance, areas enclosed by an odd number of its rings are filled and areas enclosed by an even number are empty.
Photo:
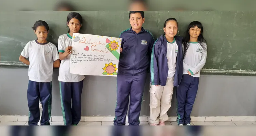
M178 54L176 57L176 70L174 75L174 86L178 87L181 83L182 74L183 74L183 58L182 58L182 37L174 36L176 43L178 45ZM152 85L166 85L166 80L168 76L168 60L166 57L167 54L167 39L164 35L161 35L156 39L152 55L151 55L151 84Z

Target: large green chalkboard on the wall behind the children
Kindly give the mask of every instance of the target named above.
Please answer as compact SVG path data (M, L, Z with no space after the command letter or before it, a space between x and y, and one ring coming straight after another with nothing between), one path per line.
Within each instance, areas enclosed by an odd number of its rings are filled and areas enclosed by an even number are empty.
M57 46L58 37L68 32L66 18L69 12L1 12L1 66L22 65L18 57L26 43L36 39L32 26L37 20L49 24L48 40ZM128 11L79 11L83 16L82 32L103 36L119 36L130 27ZM256 73L256 12L217 11L146 11L143 27L155 38L163 33L163 23L174 17L179 22L178 34L183 36L191 21L203 23L208 42L205 73Z

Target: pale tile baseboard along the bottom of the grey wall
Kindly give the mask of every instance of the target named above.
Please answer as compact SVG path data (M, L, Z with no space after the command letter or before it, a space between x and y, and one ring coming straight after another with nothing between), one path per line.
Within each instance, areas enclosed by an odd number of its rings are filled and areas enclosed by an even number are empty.
M1 115L1 121L22 121L27 122L28 116ZM81 116L80 122L112 122L115 116ZM149 121L150 117L140 116L140 121ZM128 117L126 117L126 122ZM177 117L171 116L168 121L175 122ZM191 116L192 122L226 122L226 121L256 121L256 116L217 116L217 117L194 117ZM50 122L63 122L62 116L52 116Z

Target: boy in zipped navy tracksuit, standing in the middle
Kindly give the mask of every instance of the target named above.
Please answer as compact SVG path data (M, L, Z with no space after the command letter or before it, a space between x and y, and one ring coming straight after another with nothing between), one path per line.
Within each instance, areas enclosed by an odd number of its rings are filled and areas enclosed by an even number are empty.
M120 34L122 38L119 68L117 74L117 102L114 125L125 125L128 110L129 125L139 125L142 97L150 66L154 44L153 35L142 28L143 11L131 11L131 28Z

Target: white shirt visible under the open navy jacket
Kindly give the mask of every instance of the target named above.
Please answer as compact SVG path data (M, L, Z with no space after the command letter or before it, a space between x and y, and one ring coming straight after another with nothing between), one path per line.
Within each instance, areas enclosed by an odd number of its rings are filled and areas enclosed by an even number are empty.
M178 54L178 45L175 41L175 38L173 39L172 43L167 41L167 64L168 64L168 76L167 78L174 77L175 71L176 71L176 57Z

